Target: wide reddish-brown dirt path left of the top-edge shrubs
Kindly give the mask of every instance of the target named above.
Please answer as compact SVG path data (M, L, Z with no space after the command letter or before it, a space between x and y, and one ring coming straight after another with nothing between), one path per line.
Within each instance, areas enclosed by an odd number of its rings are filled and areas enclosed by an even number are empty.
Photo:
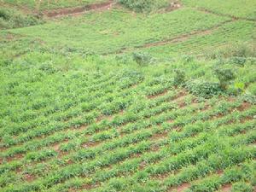
M114 2L110 0L108 2L103 3L94 3L85 6L75 7L75 8L64 8L64 9L53 9L53 10L46 10L43 12L49 18L61 17L65 15L82 15L86 11L90 10L106 10L111 9Z

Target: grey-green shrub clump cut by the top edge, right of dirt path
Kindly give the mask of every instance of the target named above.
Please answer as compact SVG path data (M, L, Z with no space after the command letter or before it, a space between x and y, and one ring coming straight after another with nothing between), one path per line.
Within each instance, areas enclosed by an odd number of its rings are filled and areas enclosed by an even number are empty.
M119 3L136 12L151 12L168 6L167 0L119 0Z

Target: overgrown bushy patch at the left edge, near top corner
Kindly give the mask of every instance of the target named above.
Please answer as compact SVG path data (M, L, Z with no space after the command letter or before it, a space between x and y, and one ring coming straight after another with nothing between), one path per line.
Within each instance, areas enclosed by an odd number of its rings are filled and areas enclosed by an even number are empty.
M34 26L42 22L38 15L24 15L16 9L0 8L0 29Z

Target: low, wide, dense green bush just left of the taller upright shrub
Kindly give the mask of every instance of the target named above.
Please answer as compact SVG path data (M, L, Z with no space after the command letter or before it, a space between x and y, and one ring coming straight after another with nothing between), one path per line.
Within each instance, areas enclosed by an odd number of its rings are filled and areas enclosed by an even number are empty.
M195 96L210 98L223 92L219 84L210 83L203 80L190 80L186 83L186 88Z

